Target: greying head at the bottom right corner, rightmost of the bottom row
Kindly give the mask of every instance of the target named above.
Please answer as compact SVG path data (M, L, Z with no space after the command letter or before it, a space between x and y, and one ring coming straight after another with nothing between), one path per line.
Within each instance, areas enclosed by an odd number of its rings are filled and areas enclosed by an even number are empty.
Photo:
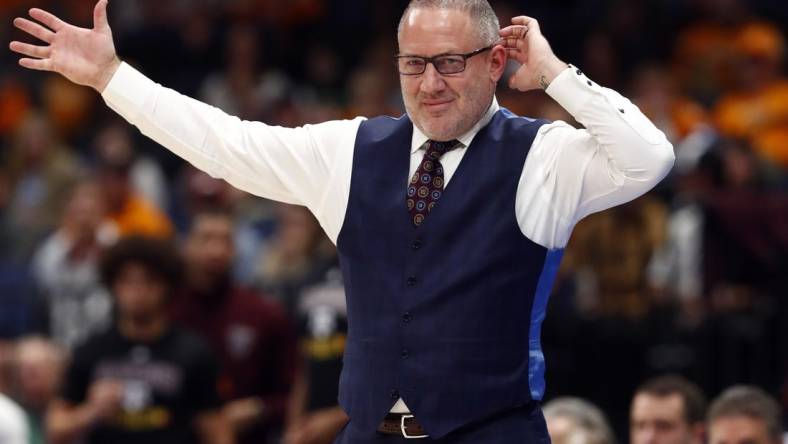
M709 408L709 444L781 444L777 402L759 388L731 387Z

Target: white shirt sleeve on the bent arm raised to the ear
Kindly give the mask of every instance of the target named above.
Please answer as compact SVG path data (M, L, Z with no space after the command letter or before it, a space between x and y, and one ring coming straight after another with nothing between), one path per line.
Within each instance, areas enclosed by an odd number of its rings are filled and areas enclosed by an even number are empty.
M565 69L547 88L585 126L543 126L528 153L517 190L517 218L529 239L563 248L575 224L629 202L673 167L673 146L629 100Z

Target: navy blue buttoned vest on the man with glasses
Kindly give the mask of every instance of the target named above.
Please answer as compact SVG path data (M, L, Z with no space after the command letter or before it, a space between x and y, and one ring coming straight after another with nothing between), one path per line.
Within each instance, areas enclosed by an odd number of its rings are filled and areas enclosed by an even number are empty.
M515 216L544 121L495 114L416 228L405 204L413 125L361 124L337 246L348 304L339 401L373 433L402 397L433 438L541 399L539 329L561 250Z

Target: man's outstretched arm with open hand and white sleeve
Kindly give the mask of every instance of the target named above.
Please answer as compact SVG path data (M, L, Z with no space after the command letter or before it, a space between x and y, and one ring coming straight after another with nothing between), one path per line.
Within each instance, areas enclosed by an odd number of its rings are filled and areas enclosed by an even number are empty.
M40 10L37 22L15 26L46 43L14 41L20 65L57 72L100 92L140 131L197 168L252 194L304 205L336 240L350 187L352 151L360 118L301 128L247 122L151 81L122 63L107 22L107 0L94 11L93 29Z

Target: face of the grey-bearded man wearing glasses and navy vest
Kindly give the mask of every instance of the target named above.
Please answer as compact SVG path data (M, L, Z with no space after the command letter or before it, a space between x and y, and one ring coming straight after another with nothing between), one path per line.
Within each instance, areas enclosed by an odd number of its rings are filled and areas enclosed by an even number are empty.
M403 22L399 54L466 54L489 44L478 34L478 24L463 11L415 8ZM461 73L443 75L427 64L423 74L400 74L405 108L414 125L439 141L470 131L489 108L505 63L506 52L499 46L467 59Z

